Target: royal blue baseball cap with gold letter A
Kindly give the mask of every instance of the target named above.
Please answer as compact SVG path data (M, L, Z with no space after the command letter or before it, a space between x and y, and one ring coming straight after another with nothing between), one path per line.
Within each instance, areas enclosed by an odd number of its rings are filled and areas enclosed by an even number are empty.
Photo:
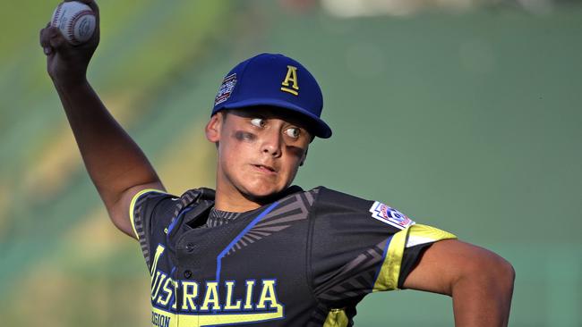
M301 63L285 55L255 55L237 64L218 88L212 114L257 105L300 113L316 137L331 136L330 126L320 118L320 86Z

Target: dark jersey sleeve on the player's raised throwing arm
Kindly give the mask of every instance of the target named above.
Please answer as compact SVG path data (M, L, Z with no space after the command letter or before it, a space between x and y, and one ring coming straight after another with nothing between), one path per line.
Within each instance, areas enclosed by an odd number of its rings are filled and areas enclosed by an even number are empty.
M173 217L176 198L158 189L143 189L133 196L129 216L149 269L151 243L164 235L164 229Z

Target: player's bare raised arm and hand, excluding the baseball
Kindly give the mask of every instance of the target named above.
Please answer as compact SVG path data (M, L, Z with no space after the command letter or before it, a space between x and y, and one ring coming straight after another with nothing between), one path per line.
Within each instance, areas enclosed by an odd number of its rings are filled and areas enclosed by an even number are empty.
M59 29L47 24L40 30L40 46L90 178L116 227L135 238L129 219L133 195L163 186L141 149L90 87L86 72L99 42L99 13L94 1L80 2L95 13L92 37L73 46Z

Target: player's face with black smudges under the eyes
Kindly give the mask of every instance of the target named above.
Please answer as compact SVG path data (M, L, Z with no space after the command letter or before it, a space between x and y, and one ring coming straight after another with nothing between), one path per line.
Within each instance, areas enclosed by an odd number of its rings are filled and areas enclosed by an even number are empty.
M291 184L312 140L295 115L280 109L230 109L214 115L207 137L217 143L217 193L261 205Z

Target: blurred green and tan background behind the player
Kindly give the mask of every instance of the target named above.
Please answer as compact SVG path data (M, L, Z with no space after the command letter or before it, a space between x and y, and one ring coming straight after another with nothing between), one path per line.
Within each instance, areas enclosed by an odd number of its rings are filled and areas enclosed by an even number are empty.
M56 4L1 4L2 324L149 325L140 248L108 221L46 74L38 32ZM320 81L334 130L297 184L381 200L504 256L510 326L582 326L582 5L99 4L90 80L170 191L214 185L202 127L224 74L290 55ZM453 324L450 298L410 290L358 312L357 326Z

